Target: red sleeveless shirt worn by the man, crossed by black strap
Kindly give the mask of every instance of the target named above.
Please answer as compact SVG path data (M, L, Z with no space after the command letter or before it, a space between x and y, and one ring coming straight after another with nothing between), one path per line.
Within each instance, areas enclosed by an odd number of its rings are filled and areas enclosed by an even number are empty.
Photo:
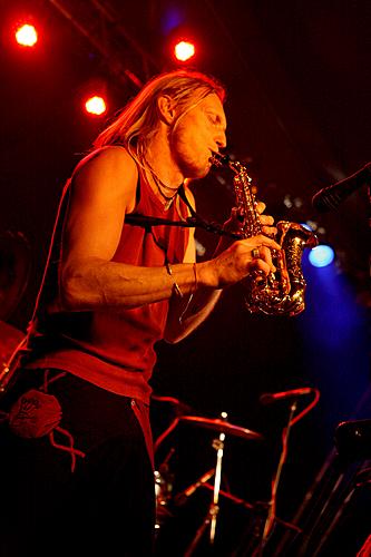
M179 196L165 212L143 175L137 199L135 214L169 221L188 216L188 208ZM156 225L148 229L125 223L113 261L164 266L167 257L169 263L182 263L188 237L188 228L180 226ZM43 287L50 291L48 272ZM154 345L164 334L167 300L130 310L48 314L42 307L42 297L41 294L41 307L30 335L27 368L62 369L110 392L149 402L148 380L156 362ZM52 300L50 293L46 297Z

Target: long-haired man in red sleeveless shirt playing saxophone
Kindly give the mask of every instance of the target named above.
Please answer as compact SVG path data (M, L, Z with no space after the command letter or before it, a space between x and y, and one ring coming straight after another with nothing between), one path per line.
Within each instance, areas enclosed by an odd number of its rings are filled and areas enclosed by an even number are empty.
M153 554L154 345L187 336L223 289L274 272L280 250L262 203L258 235L222 236L199 263L192 228L129 223L189 216L186 182L205 177L226 147L224 98L203 74L155 77L65 187L27 351L3 400L3 555Z

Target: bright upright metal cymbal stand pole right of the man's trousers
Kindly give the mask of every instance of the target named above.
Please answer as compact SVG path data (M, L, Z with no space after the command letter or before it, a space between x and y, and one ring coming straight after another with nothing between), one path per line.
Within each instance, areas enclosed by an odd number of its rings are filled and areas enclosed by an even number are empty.
M222 412L221 414L223 420L226 420L227 413ZM222 479L222 462L224 456L224 440L225 433L221 432L217 439L213 440L213 449L216 450L216 467L214 475L214 490L213 490L213 500L208 507L207 514L196 531L195 537L186 549L184 557L189 557L193 555L196 549L198 543L201 541L206 528L209 526L209 544L213 545L215 540L215 530L216 530L216 520L219 511L218 500L219 500L219 490L221 490L221 479Z

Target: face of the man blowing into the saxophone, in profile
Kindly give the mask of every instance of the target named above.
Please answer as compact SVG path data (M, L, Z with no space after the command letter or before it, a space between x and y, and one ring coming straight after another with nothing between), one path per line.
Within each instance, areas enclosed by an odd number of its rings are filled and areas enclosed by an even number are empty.
M224 108L215 94L196 101L178 118L170 134L170 146L184 177L206 176L212 154L226 146L225 129Z

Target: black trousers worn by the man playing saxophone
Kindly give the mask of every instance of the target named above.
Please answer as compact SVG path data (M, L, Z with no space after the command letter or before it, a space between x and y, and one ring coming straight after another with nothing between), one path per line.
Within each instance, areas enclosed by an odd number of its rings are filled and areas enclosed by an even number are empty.
M18 377L2 410L39 385L42 370ZM60 426L86 456L71 472L71 455L48 436L25 439L1 426L0 556L153 555L154 472L131 400L71 374L48 392L61 405Z

